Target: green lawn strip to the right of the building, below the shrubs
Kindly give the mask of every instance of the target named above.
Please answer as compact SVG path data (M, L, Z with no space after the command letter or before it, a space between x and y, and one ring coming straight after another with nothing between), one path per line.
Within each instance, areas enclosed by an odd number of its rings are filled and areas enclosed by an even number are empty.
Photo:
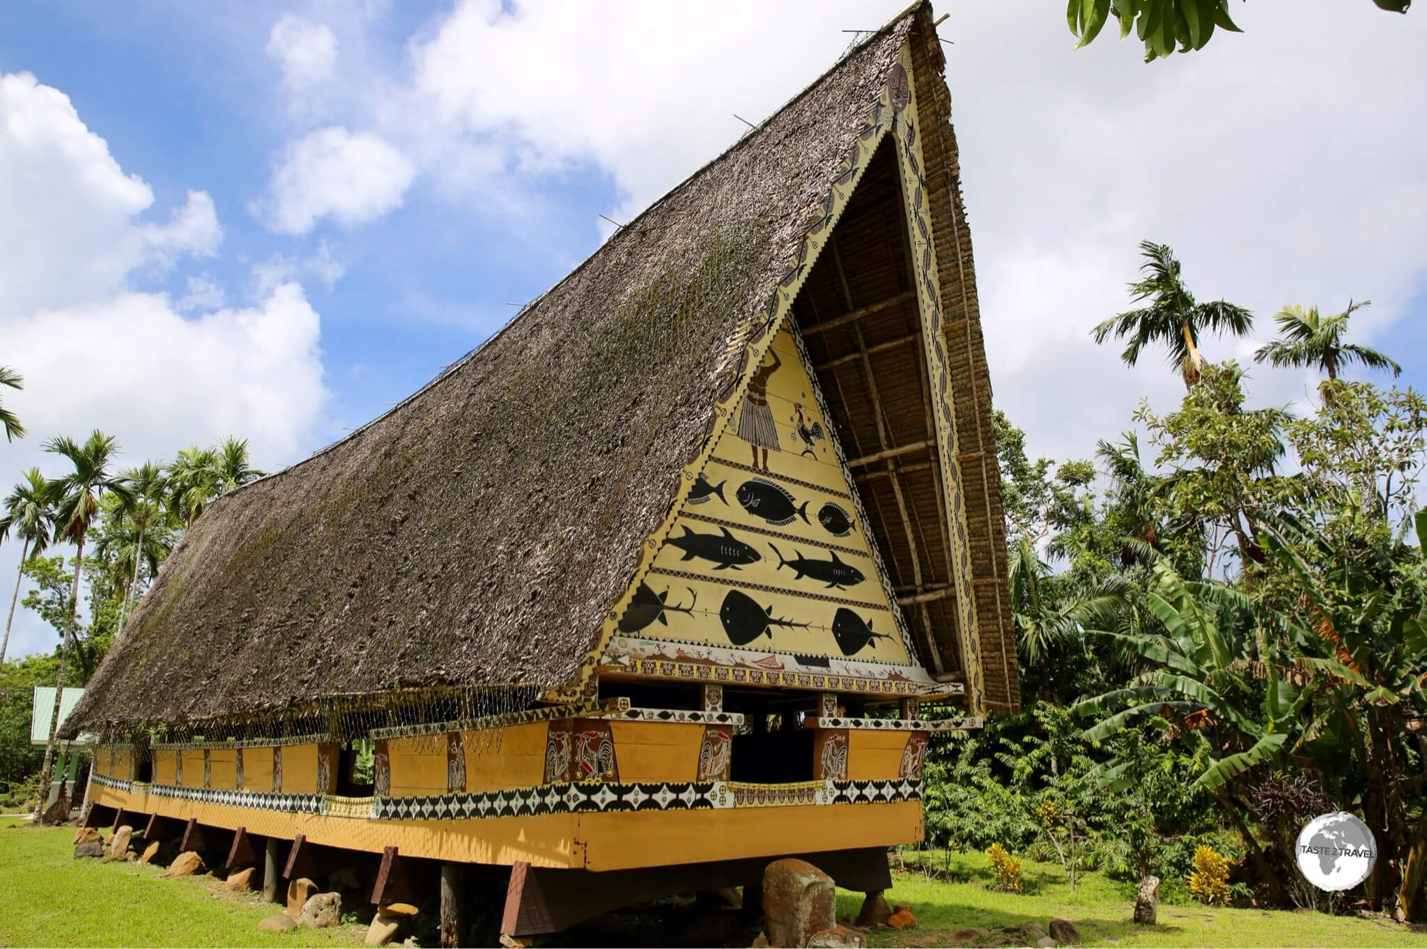
M1427 933L1383 918L1326 916L1314 912L1222 909L1160 903L1159 923L1132 920L1134 893L1100 873L1082 875L1070 892L1065 871L1025 862L1026 893L989 889L990 866L980 853L952 858L952 876L930 882L920 871L895 873L892 903L908 903L915 929L872 933L873 946L986 945L1002 926L1069 919L1083 945L1120 946L1427 946ZM856 912L862 893L839 892L838 913ZM950 939L958 930L987 930L986 939ZM1015 945L1015 943L1012 943ZM1022 943L1023 945L1023 943Z

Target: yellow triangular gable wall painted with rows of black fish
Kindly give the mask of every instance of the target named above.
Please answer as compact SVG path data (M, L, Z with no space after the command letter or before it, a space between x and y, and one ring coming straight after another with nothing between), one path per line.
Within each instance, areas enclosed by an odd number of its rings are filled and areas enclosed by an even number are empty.
M636 614L624 612L618 621L609 622L611 631L624 622L625 628L615 635L912 665L872 559L866 525L856 514L852 487L832 447L832 422L818 408L813 382L791 330L781 331L773 340L763 357L763 368L773 367L775 360L776 368L766 375L766 411L743 398L715 434L714 452L702 477L719 488L721 495L708 494L701 502L684 501L669 531L655 538L661 547L644 584L654 594L666 597L664 602L671 609L664 612L665 622L656 622L658 614L649 612L646 625L634 629L631 626L639 622ZM762 422L743 425L745 414ZM809 445L799 437L799 425L805 431L816 425L821 437ZM741 434L753 434L755 428L762 432L762 441L776 441L776 450L755 451L755 445ZM769 438L769 434L773 437ZM741 491L749 492L743 501ZM775 524L762 517L769 505L753 504L752 492L758 491L791 495L792 519ZM819 512L825 509L831 519L829 505L836 505L850 519L850 532L839 535L819 519ZM783 518L773 518L778 519ZM718 545L725 529L731 535L729 549L736 549L738 555L714 554L729 561L726 565L704 555L689 558L686 547L679 547L681 542ZM686 531L706 539L689 541ZM755 555L756 561L752 559ZM833 555L845 567L856 569L862 579L843 577L842 585L833 587L808 574L799 577L792 565L802 557L823 565L813 569L826 569ZM775 619L808 625L772 625L748 639L748 634L738 632L738 622L731 631L731 591L749 597L758 609L771 608ZM741 604L746 609L748 602ZM862 642L855 634L839 641L833 635L839 608L852 611L856 622L866 624L876 635L870 639L863 636ZM756 618L753 621L756 626L762 625ZM846 626L846 616L842 625Z

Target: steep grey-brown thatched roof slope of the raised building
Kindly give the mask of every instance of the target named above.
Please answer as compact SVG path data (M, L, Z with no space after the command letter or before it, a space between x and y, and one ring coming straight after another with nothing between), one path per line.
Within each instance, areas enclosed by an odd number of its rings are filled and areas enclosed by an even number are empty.
M438 380L215 501L70 726L575 678L909 33L940 56L902 16Z

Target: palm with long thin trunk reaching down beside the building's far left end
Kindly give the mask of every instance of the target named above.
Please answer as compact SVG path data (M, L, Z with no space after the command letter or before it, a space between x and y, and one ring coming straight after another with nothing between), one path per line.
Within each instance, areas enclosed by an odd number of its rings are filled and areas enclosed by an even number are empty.
M39 816L44 811L46 791L50 786L50 768L54 763L54 734L60 728L60 699L64 695L64 664L68 658L68 641L74 636L74 626L80 604L80 575L84 571L84 538L94 515L98 514L100 498L106 492L126 497L130 494L128 485L121 477L114 475L110 468L118 445L113 435L106 435L97 428L90 432L84 444L73 438L51 438L44 450L63 455L73 471L50 482L49 497L54 504L54 539L64 539L74 545L74 585L70 591L70 618L64 634L60 638L60 669L54 688L54 712L50 718L49 741L44 745L44 763L40 765L40 799L36 802L34 813Z

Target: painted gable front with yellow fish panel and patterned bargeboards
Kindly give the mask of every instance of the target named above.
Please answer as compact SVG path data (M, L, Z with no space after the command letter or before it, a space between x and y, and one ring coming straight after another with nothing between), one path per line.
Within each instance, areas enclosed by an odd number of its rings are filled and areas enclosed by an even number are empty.
M950 635L956 636L968 708L980 714L966 505L913 87L912 57L903 46L841 174L822 207L813 208L768 310L745 328L738 384L719 401L716 425L685 467L669 517L651 534L635 581L611 609L598 648L586 656L591 672L598 665L658 678L716 674L721 681L795 688L953 691L933 681L916 659L791 317L858 183L886 141L896 153L905 196L903 224L920 314L920 370L935 391L930 451L940 468L955 577L956 628ZM846 535L841 534L843 521ZM936 649L935 644L928 646ZM946 682L949 676L942 678Z

